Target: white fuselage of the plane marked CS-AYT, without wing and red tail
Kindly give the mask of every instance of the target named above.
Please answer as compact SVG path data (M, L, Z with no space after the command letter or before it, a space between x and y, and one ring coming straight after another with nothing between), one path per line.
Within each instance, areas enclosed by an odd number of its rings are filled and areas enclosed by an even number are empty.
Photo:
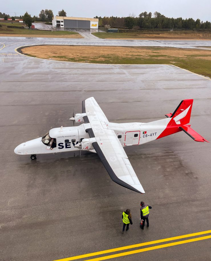
M123 147L141 145L156 140L166 128L170 118L157 120L150 123L108 123L104 128L112 129ZM88 139L89 134L85 131L91 128L89 123L77 127L54 128L49 131L49 137L54 139L54 146L49 149L42 141L42 137L23 142L15 148L18 155L49 154L58 152L78 151L74 147L81 140ZM95 151L93 151L95 152Z

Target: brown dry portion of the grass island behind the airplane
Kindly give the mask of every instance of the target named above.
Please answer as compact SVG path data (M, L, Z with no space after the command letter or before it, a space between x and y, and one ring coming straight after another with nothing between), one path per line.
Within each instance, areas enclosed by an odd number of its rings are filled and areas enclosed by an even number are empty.
M45 59L68 61L69 59L85 60L107 60L108 56L126 58L156 58L172 59L172 57L193 56L211 60L211 53L208 50L179 49L168 47L120 47L120 46L31 46L22 49L22 53ZM56 57L57 56L57 57Z

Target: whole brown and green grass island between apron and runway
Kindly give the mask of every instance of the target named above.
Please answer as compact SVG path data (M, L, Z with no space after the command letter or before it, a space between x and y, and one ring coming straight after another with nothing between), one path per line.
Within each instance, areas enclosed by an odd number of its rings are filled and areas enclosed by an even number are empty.
M172 64L211 78L211 50L170 47L31 46L21 52L39 58L98 64Z

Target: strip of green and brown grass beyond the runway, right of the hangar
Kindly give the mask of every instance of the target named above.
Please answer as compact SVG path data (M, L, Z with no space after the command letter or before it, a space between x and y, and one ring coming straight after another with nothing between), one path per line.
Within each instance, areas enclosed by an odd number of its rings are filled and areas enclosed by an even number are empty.
M127 32L92 33L102 39L211 39L211 32L173 31L173 32Z

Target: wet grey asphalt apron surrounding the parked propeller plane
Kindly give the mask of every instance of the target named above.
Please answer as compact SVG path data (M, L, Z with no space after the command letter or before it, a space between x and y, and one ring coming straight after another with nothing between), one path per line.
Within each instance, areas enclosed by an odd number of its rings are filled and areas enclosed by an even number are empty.
M165 118L193 98L191 127L211 141L209 79L172 65L79 64L14 51L48 41L73 40L0 38L10 44L0 51L0 260L51 261L211 229L210 144L185 133L125 149L145 195L112 182L95 154L31 161L13 152L52 127L71 125L73 108L80 113L91 96L118 123ZM143 231L141 200L152 206ZM133 225L122 235L126 208ZM207 239L114 260L210 261L210 253Z

